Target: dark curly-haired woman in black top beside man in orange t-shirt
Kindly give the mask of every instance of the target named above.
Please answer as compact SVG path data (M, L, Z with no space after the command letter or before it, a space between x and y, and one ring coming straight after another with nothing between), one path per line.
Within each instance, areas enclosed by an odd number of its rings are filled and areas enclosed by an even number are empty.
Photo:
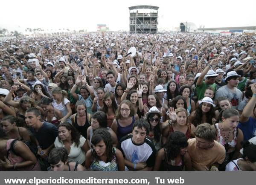
M166 144L157 152L154 171L192 170L192 162L187 153L188 139L184 133L175 131L170 134Z

